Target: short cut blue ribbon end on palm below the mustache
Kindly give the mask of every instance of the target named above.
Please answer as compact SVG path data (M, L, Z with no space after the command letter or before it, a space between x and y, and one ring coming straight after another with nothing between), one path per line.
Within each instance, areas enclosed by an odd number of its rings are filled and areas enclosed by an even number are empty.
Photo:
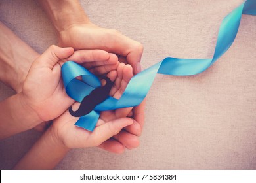
M88 131L93 131L93 129L95 129L99 117L100 112L93 110L89 114L81 116L79 120L77 120L75 125L78 127L82 127L83 129L87 129Z

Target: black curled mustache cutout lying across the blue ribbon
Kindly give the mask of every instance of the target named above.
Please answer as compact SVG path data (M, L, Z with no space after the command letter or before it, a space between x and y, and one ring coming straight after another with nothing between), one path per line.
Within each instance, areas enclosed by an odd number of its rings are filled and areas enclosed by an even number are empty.
M104 77L103 79L106 80L106 84L95 88L95 90L91 91L89 95L86 95L83 98L83 101L81 101L80 107L76 111L72 110L72 106L68 108L72 116L81 117L89 114L96 105L102 103L108 97L108 93L110 93L114 82L112 82L108 77Z

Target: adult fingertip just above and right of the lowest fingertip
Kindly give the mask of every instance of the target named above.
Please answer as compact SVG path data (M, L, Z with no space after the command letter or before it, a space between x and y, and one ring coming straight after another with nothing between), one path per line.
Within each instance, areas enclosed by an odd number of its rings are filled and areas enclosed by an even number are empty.
M114 136L114 139L121 142L127 149L137 148L140 144L139 137L127 131L120 131L117 135Z

